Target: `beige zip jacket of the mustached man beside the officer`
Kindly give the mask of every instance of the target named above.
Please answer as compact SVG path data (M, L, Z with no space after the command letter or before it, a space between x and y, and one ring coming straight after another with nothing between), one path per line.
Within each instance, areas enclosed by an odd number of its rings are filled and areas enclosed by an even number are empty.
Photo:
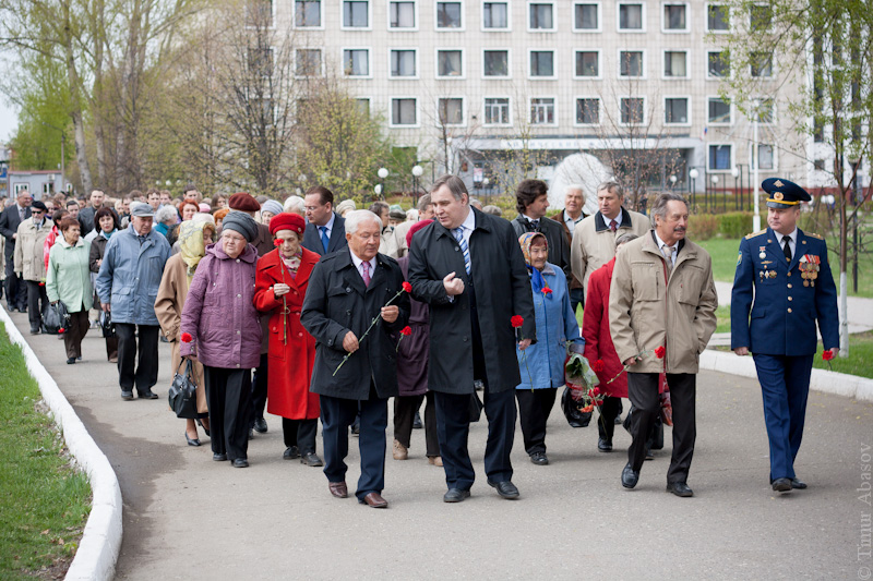
M713 259L684 240L667 264L651 233L629 242L615 259L609 292L609 328L619 361L643 353L636 373L697 373L699 355L716 330ZM658 359L655 350L665 347Z

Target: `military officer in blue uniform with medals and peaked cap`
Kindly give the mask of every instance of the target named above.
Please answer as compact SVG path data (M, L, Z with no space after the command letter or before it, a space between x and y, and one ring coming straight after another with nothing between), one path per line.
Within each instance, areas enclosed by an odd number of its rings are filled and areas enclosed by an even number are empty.
M837 289L825 241L797 227L800 203L810 201L810 194L780 178L761 185L768 194L768 228L740 241L730 304L731 349L754 356L770 445L770 484L787 493L806 487L794 474L794 459L817 347L815 324L825 350L836 356Z

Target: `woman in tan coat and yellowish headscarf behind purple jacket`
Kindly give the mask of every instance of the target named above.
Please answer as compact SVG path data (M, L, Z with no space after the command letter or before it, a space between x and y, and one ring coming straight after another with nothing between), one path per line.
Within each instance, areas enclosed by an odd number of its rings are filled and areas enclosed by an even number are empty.
M165 206L167 207L167 206ZM176 213L172 207L170 209ZM159 210L158 210L159 211ZM179 253L170 256L164 267L164 276L155 300L155 314L164 337L172 348L172 368L179 371L182 363L180 354L182 307L188 296L188 288L194 278L200 261L206 254L206 245L212 244L215 227L211 223L189 220L179 225ZM210 408L206 404L206 384L203 377L203 364L195 361L192 379L198 386L198 417L210 435ZM189 446L200 446L198 426L193 417L186 419L184 437Z

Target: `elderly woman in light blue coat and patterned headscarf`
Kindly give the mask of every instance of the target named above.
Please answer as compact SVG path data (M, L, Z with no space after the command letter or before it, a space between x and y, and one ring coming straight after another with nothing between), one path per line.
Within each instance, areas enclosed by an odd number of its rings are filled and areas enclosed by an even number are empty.
M525 351L516 348L522 383L515 390L518 416L530 461L546 465L546 421L554 406L558 388L564 382L567 344L582 352L585 340L579 335L576 316L570 307L570 291L561 268L548 262L549 243L540 232L525 232L518 238L530 274L534 312L537 317L537 342Z

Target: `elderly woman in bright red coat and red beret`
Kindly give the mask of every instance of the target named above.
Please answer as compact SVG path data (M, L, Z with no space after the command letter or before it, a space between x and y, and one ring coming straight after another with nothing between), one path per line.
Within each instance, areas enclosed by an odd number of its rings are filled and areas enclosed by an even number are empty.
M300 245L306 222L297 214L277 214L270 221L276 250L258 261L254 306L271 313L267 339L267 411L282 416L283 458L323 465L315 453L319 396L309 391L315 339L300 324L309 275L319 255Z

